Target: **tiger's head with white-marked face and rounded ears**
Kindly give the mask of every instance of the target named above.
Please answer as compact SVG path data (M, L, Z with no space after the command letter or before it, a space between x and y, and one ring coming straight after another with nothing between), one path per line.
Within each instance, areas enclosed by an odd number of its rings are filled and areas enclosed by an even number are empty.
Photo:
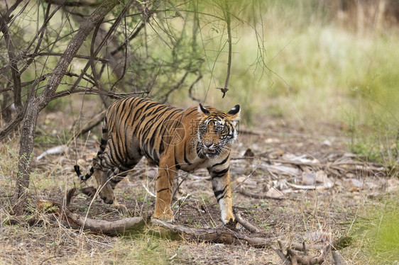
M200 123L198 127L197 154L209 159L230 152L231 144L237 139L236 125L240 119L240 106L236 105L228 113L209 111L198 106Z

